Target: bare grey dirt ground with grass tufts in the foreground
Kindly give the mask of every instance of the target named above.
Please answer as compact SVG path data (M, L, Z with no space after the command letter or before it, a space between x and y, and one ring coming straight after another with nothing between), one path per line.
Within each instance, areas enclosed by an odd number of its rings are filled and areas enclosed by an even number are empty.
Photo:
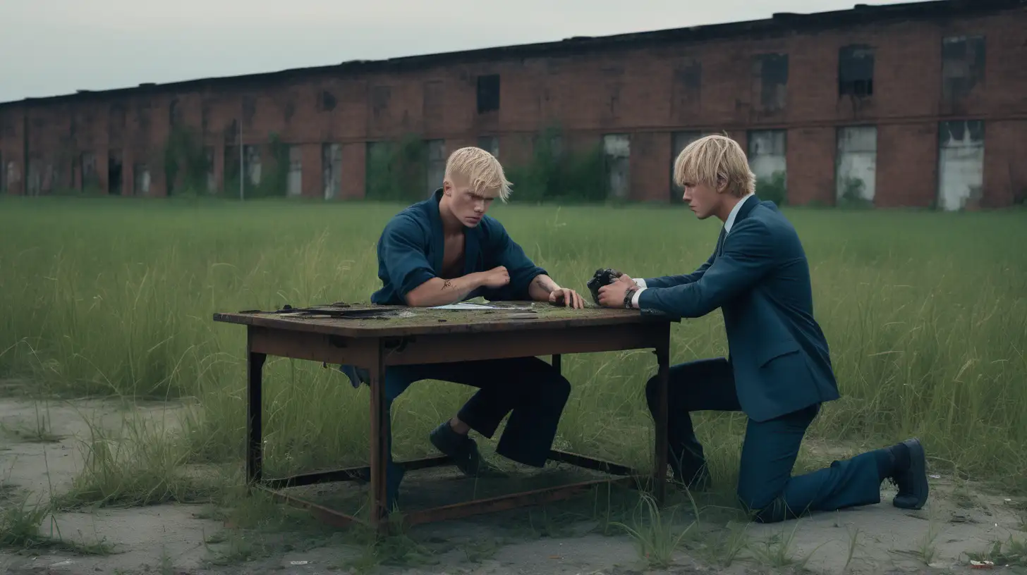
M174 416L161 405L134 410L154 420ZM45 425L40 423L43 416ZM82 468L80 442L88 437L90 425L116 429L123 416L122 408L103 401L49 401L41 409L31 400L0 399L0 508L15 501L15 492L32 494L31 502L45 502L65 492ZM454 472L440 470L411 477L405 486L417 493L423 485L422 496L427 497L429 486L459 489L460 482ZM511 520L514 515L480 515L419 526L392 549L403 560L382 565L368 562L367 547L340 533L265 533L248 539L251 535L233 533L231 526L226 529L225 522L212 516L204 505L168 504L47 516L40 534L86 545L105 542L112 552L36 553L6 548L0 550L0 573L580 575L803 569L814 573L940 573L968 570L966 553L986 551L995 541L1012 538L1022 545L1027 539L1023 532L1027 513L1016 498L938 475L933 475L931 489L933 498L920 511L892 507L891 492L885 491L880 504L842 512L770 526L702 526L689 534L691 550L676 551L673 564L663 569L647 567L636 541L622 531L599 533L599 522L587 518L554 527L537 514L531 516L540 523L526 523L522 512L519 521ZM259 552L262 549L273 552ZM726 561L730 558L734 561Z

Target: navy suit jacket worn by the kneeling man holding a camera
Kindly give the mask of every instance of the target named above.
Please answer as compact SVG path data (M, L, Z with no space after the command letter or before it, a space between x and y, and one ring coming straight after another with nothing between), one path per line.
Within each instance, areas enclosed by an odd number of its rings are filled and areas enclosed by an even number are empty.
M802 242L772 201L749 197L694 272L645 282L643 312L680 318L721 308L738 402L753 420L839 397Z

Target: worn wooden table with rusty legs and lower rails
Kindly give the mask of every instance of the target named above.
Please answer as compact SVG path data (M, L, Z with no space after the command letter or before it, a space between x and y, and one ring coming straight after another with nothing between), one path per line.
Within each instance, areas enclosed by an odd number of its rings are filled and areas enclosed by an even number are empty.
M472 359L551 355L559 370L565 353L592 353L652 348L659 377L659 409L655 422L654 491L662 501L667 469L667 379L670 362L670 323L660 316L633 310L567 309L537 302L503 302L490 310L441 310L377 305L332 304L273 312L216 313L214 319L246 325L246 476L253 487L275 498L309 509L337 526L360 522L356 518L313 502L286 495L282 488L369 478L372 494L370 524L387 527L385 464L389 418L385 401L385 370L389 366ZM267 480L262 470L262 374L268 355L350 365L366 369L371 388L370 465ZM345 376L339 374L340 379ZM345 384L348 385L348 382ZM572 382L573 385L573 382ZM599 414L597 414L599 415ZM642 473L623 465L553 450L549 459L621 475L634 482ZM448 457L396 462L406 469L452 464ZM583 482L532 492L467 501L405 513L409 525L455 519L566 499L598 483ZM363 522L362 522L363 523Z

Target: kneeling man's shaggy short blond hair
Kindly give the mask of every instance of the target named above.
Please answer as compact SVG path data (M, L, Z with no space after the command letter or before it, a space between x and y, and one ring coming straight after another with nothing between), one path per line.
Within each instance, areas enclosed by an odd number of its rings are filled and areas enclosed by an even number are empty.
M726 136L707 136L685 147L674 160L674 183L706 184L741 197L756 190L756 175L738 143Z

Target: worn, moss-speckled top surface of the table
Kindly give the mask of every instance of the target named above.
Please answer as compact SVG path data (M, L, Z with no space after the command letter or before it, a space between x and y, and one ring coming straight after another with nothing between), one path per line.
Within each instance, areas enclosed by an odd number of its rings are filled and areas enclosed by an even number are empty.
M545 302L495 302L492 309L432 309L373 304L312 306L277 311L215 313L215 321L319 333L352 338L381 338L512 330L563 329L631 323L665 323L665 317L638 310L609 309L588 304L585 309Z

